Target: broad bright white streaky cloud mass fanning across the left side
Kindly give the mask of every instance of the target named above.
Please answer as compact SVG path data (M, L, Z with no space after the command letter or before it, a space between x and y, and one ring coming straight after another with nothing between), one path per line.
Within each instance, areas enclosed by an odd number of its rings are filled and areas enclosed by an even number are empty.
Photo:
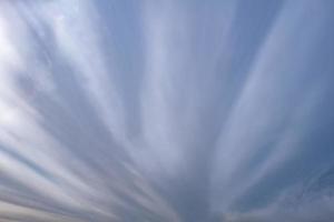
M1 220L119 221L141 215L178 221L130 162L116 160L120 157L112 145L124 141L122 117L99 30L92 28L92 4L2 6ZM14 26L22 29L9 28ZM63 98L60 91L78 94ZM89 109L73 112L84 105ZM87 128L99 132L89 135Z

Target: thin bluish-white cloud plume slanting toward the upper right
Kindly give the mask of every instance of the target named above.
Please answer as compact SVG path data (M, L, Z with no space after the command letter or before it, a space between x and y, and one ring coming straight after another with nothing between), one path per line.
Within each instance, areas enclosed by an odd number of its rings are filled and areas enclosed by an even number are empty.
M322 53L316 39L326 17L314 18L314 7L318 6L284 6L235 100L218 142L213 182L220 193L218 199L224 196L220 204L227 204L223 208L249 201L243 199L252 189L277 174L282 165L294 165L296 155L307 152L303 141L330 88L323 82L327 71L320 69L317 77L312 77L310 63L303 64L311 51L313 57ZM307 29L299 30L302 22L308 23ZM296 42L298 34L303 41ZM312 67L321 68L326 62L313 61ZM271 195L266 192L262 195Z

